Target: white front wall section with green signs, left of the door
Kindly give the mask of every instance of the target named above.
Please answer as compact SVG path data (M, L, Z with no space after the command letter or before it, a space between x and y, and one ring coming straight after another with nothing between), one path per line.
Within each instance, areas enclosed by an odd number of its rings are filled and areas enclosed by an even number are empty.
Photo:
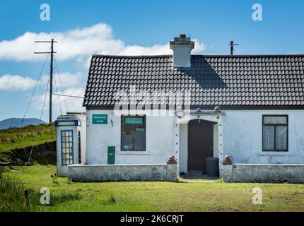
M115 146L115 164L165 163L170 155L178 158L179 125L173 116L146 115L146 151L121 151L121 117L113 110L87 110L86 160L88 164L107 164L107 147ZM108 124L92 124L92 114L107 114ZM145 114L145 112L141 112ZM177 126L176 126L177 125ZM176 149L176 150L175 150Z

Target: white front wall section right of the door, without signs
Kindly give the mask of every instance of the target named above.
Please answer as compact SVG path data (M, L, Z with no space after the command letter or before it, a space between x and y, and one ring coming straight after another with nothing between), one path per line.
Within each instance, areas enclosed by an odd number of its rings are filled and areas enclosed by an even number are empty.
M303 164L303 110L223 111L223 156L234 163ZM262 153L262 115L288 114L288 153Z

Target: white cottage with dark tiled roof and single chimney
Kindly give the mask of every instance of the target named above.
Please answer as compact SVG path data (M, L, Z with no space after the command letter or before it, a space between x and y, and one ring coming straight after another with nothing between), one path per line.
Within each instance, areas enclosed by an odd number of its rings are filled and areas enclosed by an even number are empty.
M86 163L165 164L174 155L178 172L206 173L206 157L217 157L226 181L304 182L304 55L192 55L185 35L170 48L93 55Z

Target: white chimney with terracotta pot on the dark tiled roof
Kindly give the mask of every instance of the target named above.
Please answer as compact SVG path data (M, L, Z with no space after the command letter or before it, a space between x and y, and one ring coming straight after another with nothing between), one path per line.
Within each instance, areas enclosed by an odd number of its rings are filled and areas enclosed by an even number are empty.
M174 37L170 42L170 49L173 50L173 67L187 68L191 66L191 50L194 48L194 42L186 35Z

